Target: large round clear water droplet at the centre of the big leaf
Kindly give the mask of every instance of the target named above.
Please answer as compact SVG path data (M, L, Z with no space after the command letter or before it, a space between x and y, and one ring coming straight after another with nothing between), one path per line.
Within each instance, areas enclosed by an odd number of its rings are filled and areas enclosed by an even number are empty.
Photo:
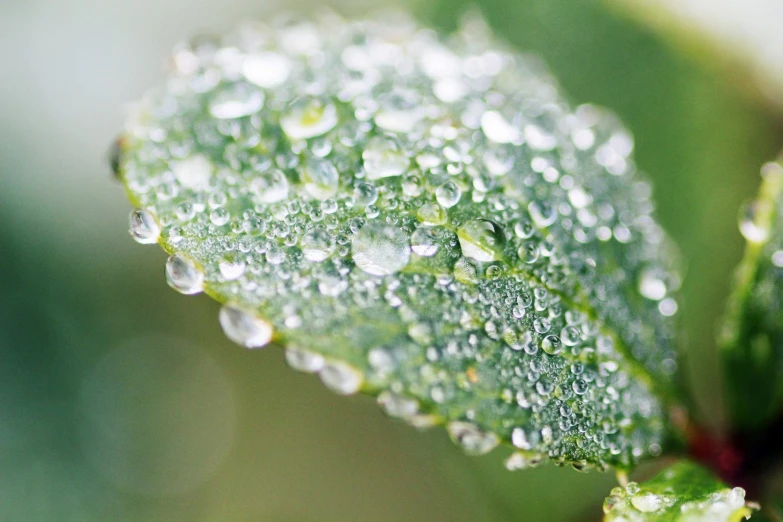
M361 270L376 276L391 275L410 261L410 238L402 229L369 223L353 236L351 251Z

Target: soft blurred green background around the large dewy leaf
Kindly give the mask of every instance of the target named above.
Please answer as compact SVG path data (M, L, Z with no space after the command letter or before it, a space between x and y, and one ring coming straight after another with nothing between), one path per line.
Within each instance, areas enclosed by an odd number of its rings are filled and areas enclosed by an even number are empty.
M719 428L713 338L742 250L737 209L783 149L781 113L741 69L704 66L596 1L408 5L444 30L478 7L574 103L608 106L634 133L688 269L684 372ZM281 9L0 2L0 520L598 520L610 474L509 473L502 451L465 457L442 429L418 433L288 370L278 349L243 351L216 303L171 291L163 252L128 237L105 161L123 105L162 79L179 40Z

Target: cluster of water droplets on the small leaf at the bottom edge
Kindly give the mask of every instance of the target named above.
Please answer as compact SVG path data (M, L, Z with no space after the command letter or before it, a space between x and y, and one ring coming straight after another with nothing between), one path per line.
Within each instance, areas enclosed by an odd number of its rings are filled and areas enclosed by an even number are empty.
M679 522L732 522L738 520L738 513L748 518L742 488L722 489L682 502L673 488L656 493L636 482L614 488L604 501L604 513L607 522L647 522L653 517Z

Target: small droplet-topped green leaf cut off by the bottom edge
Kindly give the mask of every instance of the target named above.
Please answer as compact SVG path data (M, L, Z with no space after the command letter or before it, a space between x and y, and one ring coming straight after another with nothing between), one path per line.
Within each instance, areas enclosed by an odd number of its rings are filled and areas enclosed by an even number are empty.
M654 478L616 487L604 501L605 522L739 522L750 518L745 490L728 488L690 461L669 466Z

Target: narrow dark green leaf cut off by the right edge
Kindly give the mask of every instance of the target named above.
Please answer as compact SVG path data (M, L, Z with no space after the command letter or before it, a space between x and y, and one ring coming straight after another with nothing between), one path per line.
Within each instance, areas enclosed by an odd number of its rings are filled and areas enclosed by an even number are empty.
M783 166L762 169L758 198L741 212L747 239L721 332L727 403L738 428L762 427L783 401Z

